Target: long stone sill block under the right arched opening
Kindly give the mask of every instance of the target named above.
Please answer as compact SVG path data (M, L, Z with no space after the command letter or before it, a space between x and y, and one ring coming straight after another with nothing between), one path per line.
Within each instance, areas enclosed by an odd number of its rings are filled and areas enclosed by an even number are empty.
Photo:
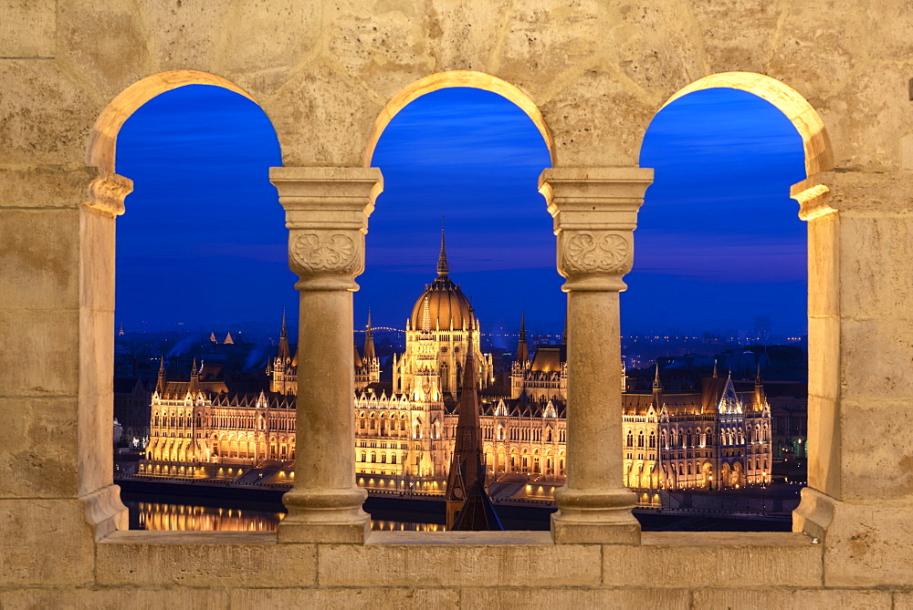
M800 533L644 532L603 546L603 584L644 587L793 586L822 582L821 545ZM748 569L746 566L750 566Z

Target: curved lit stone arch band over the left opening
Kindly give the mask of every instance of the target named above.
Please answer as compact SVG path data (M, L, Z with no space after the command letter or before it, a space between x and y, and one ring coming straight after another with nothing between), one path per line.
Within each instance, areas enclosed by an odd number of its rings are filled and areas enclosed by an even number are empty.
M117 156L117 137L124 122L150 99L187 85L211 85L233 91L253 102L257 102L247 91L227 78L200 70L169 70L143 78L125 88L101 111L95 125L89 132L89 148L86 164L101 170L114 172ZM262 107L261 107L262 109Z

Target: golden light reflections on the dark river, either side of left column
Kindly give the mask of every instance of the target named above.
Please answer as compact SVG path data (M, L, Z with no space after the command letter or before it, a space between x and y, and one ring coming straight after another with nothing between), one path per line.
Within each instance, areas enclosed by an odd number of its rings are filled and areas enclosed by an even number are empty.
M124 498L131 530L169 532L274 532L285 512L257 508L226 508L194 503L140 501ZM444 532L440 523L372 520L377 532Z

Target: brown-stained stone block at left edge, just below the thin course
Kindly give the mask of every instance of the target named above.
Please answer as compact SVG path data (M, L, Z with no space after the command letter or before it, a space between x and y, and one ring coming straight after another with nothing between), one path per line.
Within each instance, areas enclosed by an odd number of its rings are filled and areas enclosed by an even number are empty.
M0 235L0 308L47 310L77 306L77 210L4 210L0 215Z

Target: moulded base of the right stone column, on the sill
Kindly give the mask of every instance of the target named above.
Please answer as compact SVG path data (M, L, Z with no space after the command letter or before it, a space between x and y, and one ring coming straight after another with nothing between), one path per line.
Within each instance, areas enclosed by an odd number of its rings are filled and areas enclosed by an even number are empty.
M640 544L640 522L631 509L634 492L626 489L555 491L558 512L551 515L556 544Z

